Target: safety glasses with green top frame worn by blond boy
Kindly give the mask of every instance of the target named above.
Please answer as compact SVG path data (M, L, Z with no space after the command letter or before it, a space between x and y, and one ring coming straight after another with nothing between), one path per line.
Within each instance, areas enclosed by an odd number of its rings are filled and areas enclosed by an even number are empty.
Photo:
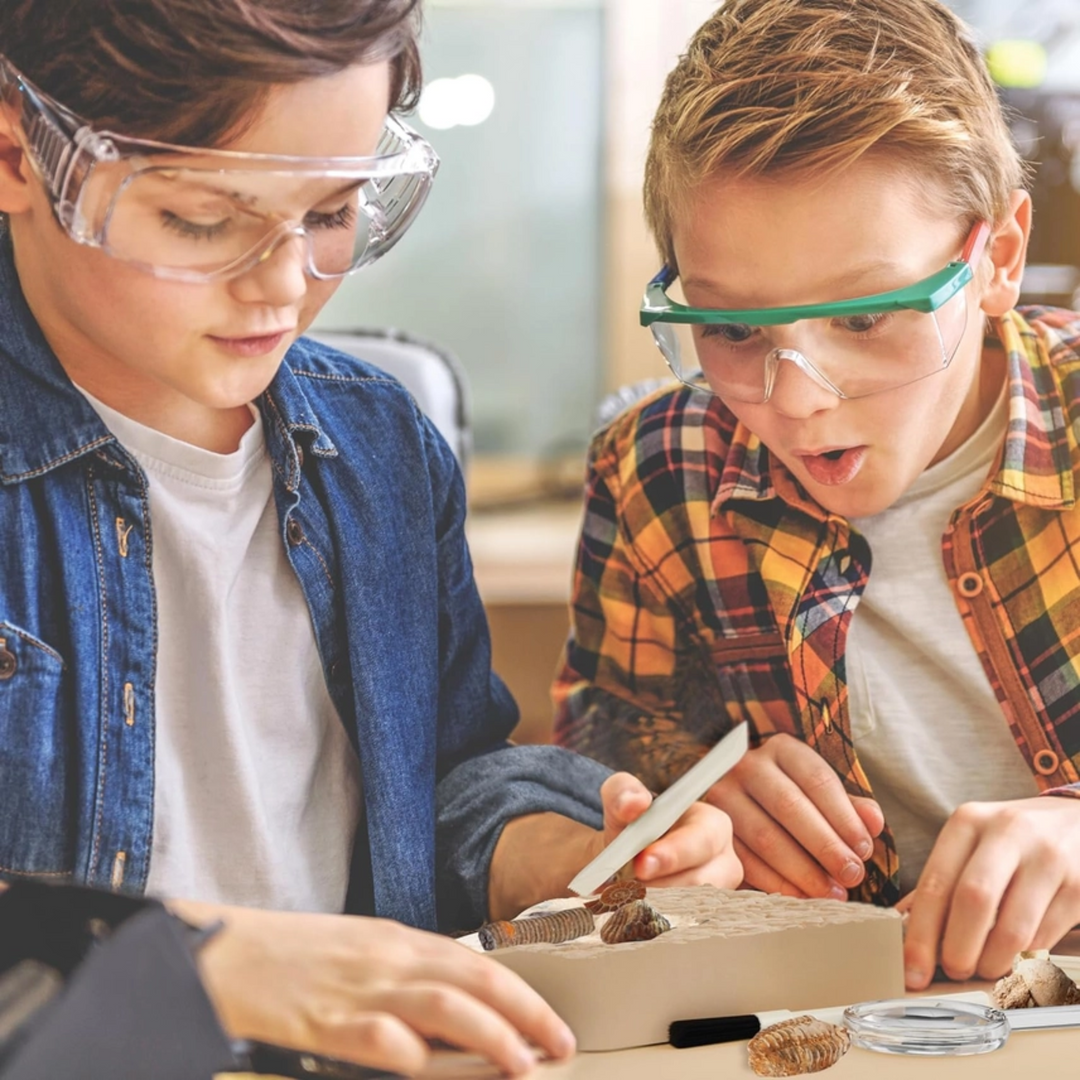
M964 286L989 232L977 224L959 259L907 288L832 303L691 308L669 297L677 275L664 267L646 289L642 325L676 378L719 397L767 402L784 362L838 397L866 397L951 363L968 325Z

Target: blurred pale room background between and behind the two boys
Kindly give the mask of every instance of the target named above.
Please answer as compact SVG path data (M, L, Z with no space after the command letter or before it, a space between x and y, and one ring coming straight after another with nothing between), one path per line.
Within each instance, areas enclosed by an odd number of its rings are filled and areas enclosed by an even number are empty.
M427 0L411 122L438 179L393 257L347 281L316 325L394 328L460 364L470 543L524 741L550 734L589 436L608 395L665 375L636 318L658 269L642 166L664 77L715 6ZM1080 2L951 6L1036 164L1024 300L1080 307Z

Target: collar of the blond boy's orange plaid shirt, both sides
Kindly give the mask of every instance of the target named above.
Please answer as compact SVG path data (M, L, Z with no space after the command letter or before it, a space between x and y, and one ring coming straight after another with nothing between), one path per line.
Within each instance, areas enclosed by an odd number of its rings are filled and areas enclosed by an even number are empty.
M1049 364L1057 342L1052 332L1045 339L1037 334L1017 311L995 320L993 335L1008 357L1009 431L988 490L1045 510L1069 510L1076 502L1069 429ZM775 498L813 517L828 516L786 467L770 457L761 440L737 422L712 513L720 513L735 499L765 502Z

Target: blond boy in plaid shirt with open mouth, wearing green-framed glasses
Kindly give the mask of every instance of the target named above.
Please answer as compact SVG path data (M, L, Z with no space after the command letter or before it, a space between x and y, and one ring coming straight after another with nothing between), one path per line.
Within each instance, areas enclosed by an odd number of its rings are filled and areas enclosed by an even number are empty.
M936 0L729 0L645 202L688 386L592 446L557 738L661 789L750 724L746 883L909 908L913 989L999 975L1080 921L1080 318L1015 309L980 52Z

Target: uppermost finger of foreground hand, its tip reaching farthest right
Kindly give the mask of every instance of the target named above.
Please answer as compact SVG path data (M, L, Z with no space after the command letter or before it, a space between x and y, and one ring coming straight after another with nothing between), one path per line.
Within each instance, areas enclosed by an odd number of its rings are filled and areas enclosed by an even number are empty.
M523 978L501 963L448 942L456 955L440 956L424 964L426 982L455 986L495 1010L521 1035L545 1054L569 1057L575 1050L573 1032L555 1010Z

